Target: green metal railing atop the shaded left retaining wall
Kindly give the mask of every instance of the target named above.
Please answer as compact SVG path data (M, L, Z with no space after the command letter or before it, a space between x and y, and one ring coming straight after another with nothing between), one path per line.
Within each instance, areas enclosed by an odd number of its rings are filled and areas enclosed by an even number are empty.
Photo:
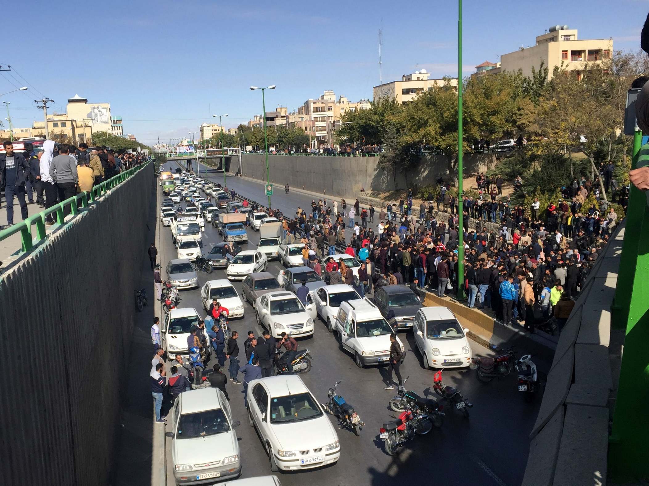
M12 235L15 235L16 233L20 233L22 251L30 251L32 248L34 248L34 246L38 246L45 240L45 222L47 221L47 216L49 216L50 214L56 214L56 222L60 225L64 224L66 206L69 206L70 213L73 216L79 214L80 209L88 207L90 203L93 203L101 198L101 196L106 194L106 192L110 191L110 189L113 189L126 179L130 178L130 176L138 172L138 170L147 167L149 163L151 162L143 163L138 165L137 167L129 168L129 170L125 170L125 172L120 172L116 176L95 185L88 192L80 192L79 194L72 196L71 198L67 198L65 201L62 201L58 204L53 205L52 207L49 207L48 209L45 209L45 211L41 211L38 214L29 216L29 218L27 218L26 220L16 223L12 227L3 229L2 231L0 231L0 241L3 241ZM34 234L32 233L32 226L34 225L36 226L36 238L38 238L35 244Z

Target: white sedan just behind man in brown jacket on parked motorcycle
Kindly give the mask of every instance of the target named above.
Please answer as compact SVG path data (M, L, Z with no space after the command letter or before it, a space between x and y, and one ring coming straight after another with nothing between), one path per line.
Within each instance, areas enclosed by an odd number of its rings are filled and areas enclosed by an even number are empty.
M257 323L275 338L279 338L282 332L291 336L313 334L313 318L309 311L315 310L315 304L304 307L293 292L278 290L263 294L257 297L254 308Z

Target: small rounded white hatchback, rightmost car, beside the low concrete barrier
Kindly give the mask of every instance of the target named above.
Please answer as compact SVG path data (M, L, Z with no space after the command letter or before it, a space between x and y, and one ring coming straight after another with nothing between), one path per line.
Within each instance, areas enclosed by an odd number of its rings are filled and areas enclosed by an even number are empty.
M471 364L467 329L446 307L422 307L413 324L415 344L424 368L464 368Z

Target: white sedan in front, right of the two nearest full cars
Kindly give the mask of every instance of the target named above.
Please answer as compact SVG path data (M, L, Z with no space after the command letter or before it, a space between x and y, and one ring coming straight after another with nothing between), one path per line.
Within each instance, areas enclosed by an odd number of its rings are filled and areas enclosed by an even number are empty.
M300 376L252 380L246 403L271 471L312 469L339 459L336 429Z

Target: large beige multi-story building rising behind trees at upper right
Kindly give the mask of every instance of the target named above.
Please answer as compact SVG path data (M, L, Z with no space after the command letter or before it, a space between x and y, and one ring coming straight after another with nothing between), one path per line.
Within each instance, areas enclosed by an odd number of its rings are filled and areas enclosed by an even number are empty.
M536 44L532 47L520 47L517 51L500 56L500 67L502 71L516 72L520 69L524 75L530 76L532 67L539 69L543 60L549 70L549 79L556 66L568 71L582 71L586 64L609 59L612 52L613 39L579 40L577 29L554 25L545 34L537 36Z

